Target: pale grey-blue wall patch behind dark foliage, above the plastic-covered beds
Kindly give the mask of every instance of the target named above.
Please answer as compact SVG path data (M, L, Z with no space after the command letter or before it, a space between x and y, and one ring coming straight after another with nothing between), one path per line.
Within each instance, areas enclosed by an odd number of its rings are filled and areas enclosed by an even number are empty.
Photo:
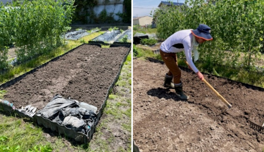
M116 4L116 5L98 5L93 8L94 13L98 16L104 9L106 9L107 14L114 12L114 19L119 20L121 19L119 16L115 15L116 13L120 12L123 13L123 4Z

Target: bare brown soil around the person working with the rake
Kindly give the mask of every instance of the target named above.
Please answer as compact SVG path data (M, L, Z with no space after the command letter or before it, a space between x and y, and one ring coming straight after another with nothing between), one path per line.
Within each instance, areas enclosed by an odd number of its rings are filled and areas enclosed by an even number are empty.
M182 70L186 102L163 87L164 64L133 60L133 139L143 151L262 151L264 91L204 74L227 106L190 70ZM223 113L222 113L223 112Z

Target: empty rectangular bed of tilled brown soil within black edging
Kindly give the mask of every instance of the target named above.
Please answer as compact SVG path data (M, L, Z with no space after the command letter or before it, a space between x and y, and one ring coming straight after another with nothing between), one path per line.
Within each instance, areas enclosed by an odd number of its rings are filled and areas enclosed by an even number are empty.
M56 94L101 108L128 48L83 45L5 88L5 99L16 108L39 109Z

